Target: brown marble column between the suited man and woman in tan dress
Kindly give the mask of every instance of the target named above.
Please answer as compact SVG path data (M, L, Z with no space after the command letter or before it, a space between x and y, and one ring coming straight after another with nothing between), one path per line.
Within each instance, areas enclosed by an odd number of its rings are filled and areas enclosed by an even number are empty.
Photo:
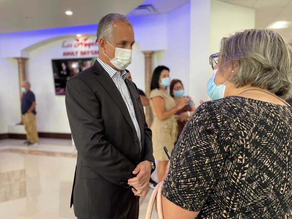
M147 97L150 96L150 85L151 85L151 78L152 78L152 54L153 51L143 51L145 56L145 94ZM153 121L152 110L150 106L145 107L145 117L148 127L151 126Z

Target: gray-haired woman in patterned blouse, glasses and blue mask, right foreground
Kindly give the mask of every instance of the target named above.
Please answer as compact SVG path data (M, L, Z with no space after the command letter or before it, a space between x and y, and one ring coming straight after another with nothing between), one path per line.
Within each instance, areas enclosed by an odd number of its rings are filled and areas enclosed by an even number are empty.
M210 64L213 100L172 151L164 218L292 218L291 47L245 30L223 38Z

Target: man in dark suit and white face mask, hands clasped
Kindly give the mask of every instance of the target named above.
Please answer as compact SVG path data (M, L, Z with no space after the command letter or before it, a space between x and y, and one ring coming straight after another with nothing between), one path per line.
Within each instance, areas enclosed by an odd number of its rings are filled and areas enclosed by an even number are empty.
M126 79L134 30L109 14L97 28L99 58L69 79L66 107L77 165L71 197L82 219L137 219L154 171L152 133L136 85Z

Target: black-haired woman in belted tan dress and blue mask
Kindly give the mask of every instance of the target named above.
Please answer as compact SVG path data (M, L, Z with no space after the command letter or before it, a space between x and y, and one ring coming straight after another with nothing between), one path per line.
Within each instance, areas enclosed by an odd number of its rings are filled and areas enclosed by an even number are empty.
M158 180L161 181L168 157L163 147L165 146L169 152L172 151L177 137L177 122L174 114L182 109L188 101L182 98L176 104L172 96L166 92L166 88L170 85L169 68L158 66L155 68L151 81L150 107L152 109L154 120L151 125L153 155L158 160L157 172Z

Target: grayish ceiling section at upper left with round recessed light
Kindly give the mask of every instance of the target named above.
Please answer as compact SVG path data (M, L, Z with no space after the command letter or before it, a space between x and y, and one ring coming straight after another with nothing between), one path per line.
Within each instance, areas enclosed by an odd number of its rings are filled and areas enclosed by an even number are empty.
M144 0L0 0L0 33L94 24L109 13L126 15L142 2ZM73 15L65 15L67 10Z

